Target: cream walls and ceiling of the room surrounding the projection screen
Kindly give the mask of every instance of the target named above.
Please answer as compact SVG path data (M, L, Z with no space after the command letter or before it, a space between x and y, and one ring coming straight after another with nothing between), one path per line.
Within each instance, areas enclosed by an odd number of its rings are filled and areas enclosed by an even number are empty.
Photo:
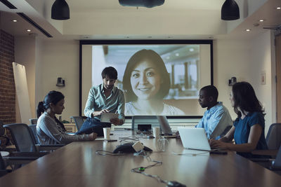
M269 125L277 122L275 79L280 74L276 74L275 57L281 51L275 51L275 37L280 32L281 10L277 7L281 1L237 0L240 19L232 21L221 20L224 1L166 0L155 8L136 8L121 6L117 0L68 0L69 20L51 19L54 1L8 1L17 9L0 2L0 119L20 122L12 62L25 65L32 118L46 93L58 90L65 95L62 117L70 120L79 115L79 40L204 39L214 45L218 101L235 119L228 80L236 77L251 83L266 110L267 132ZM25 16L43 30L22 18ZM65 87L56 86L58 77L65 80Z

